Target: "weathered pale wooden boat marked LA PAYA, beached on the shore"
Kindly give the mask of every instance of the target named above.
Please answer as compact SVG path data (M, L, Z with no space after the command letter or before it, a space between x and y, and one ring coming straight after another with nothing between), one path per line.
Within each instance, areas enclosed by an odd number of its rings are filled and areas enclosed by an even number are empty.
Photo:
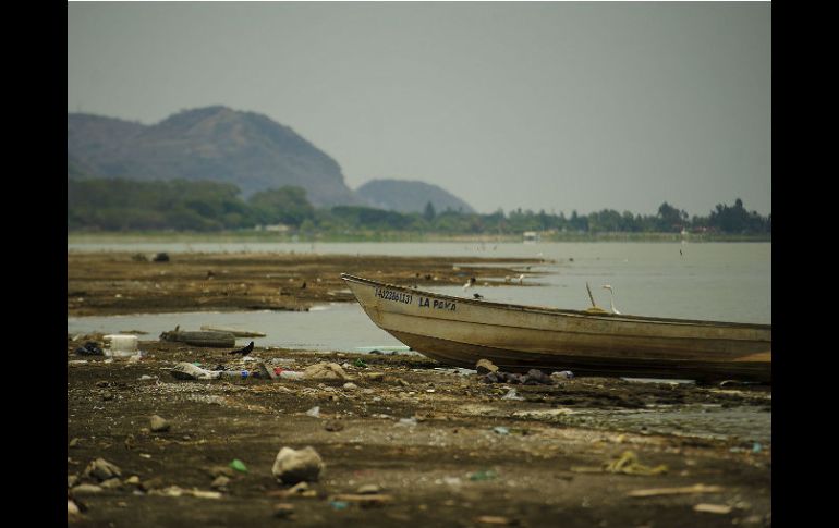
M520 306L341 278L373 322L448 365L771 382L771 324Z

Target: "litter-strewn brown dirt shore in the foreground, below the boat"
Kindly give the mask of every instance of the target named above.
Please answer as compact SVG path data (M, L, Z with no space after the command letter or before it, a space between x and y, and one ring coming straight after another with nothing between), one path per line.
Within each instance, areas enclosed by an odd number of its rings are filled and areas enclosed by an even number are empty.
M254 363L231 359L223 349L154 341L141 342L146 356L138 361L106 363L73 353L87 339L68 336L68 495L84 509L69 516L76 526L771 525L770 444L757 452L735 439L627 432L609 420L576 427L564 419L582 409L608 414L639 405L770 413L766 388L603 378L487 384L479 374L435 370L440 365L422 356L278 348L255 349L252 357L296 371L318 361L342 364L355 388L344 388L345 380L187 381L168 369L179 361L245 369ZM358 359L366 365L356 366ZM510 389L523 400L503 398ZM306 415L315 406L319 416ZM151 415L171 429L151 432ZM271 475L273 459L283 446L307 445L326 467L311 483L314 496L290 494ZM666 472L603 469L627 451L645 467L666 465ZM80 488L101 487L85 477L96 458L121 469L106 484L113 488ZM190 494L214 491L218 467L233 459L247 472L228 469L233 476L218 496ZM366 502L339 496L365 484L379 493ZM695 484L719 489L629 494ZM275 517L278 503L287 504L289 517ZM698 504L725 513L694 509Z

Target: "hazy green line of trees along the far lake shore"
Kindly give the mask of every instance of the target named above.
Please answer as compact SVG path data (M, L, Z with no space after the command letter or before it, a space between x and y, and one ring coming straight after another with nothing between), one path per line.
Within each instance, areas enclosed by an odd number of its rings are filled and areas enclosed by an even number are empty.
M400 213L369 207L315 209L300 187L263 191L247 199L233 184L184 180L69 180L68 231L221 231L287 225L303 233L352 234L403 231L440 234L515 234L524 231L577 233L771 233L771 214L747 211L740 198L719 204L707 216L664 202L655 214L603 209L588 214L547 213L521 208L504 213L436 211Z

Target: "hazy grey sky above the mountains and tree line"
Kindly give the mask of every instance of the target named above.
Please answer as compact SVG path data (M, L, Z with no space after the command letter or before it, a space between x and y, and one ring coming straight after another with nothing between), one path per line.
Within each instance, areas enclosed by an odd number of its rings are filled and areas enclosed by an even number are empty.
M482 212L771 212L768 2L70 2L68 111L224 105L350 187Z

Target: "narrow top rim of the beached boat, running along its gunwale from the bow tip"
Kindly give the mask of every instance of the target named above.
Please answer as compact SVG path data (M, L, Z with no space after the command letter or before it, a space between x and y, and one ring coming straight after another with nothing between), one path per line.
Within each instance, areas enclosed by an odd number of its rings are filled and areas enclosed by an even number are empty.
M408 286L401 286L399 284L390 284L385 282L378 282L370 279L364 279L362 277L353 275L350 273L341 273L341 279L343 279L346 282L356 282L361 284L366 284L370 286L381 286L387 287L390 290L398 290L404 293L410 294L422 294L429 297L438 297L446 300L454 300L458 303L466 303L469 305L474 306L481 306L481 307L491 307L491 308L499 308L499 309L506 309L506 310L518 310L518 311L524 311L524 312L532 312L532 314L545 314L545 315L560 315L560 316L569 316L569 317L582 317L586 319L598 319L598 320L608 320L609 322L619 322L619 321L627 321L627 322L647 322L647 323L654 323L654 324L682 324L682 326L698 326L698 327L725 327L725 328L741 328L741 329L755 329L755 330L771 330L771 324L761 324L761 323L754 323L754 322L731 322L731 321L710 321L710 320L700 320L700 319L676 319L676 318L665 318L665 317L652 317L652 316L632 316L632 315L624 315L624 314L610 314L608 311L605 311L603 314L592 314L589 311L584 310L571 310L571 309L563 309L563 308L550 308L550 307L542 307L542 306L527 306L527 305L516 305L512 303L497 303L494 300L483 300L483 299L471 299L466 297L455 297L452 295L446 295L441 293L435 293L435 292L428 292L426 290L415 290ZM356 300L357 296L356 296Z

